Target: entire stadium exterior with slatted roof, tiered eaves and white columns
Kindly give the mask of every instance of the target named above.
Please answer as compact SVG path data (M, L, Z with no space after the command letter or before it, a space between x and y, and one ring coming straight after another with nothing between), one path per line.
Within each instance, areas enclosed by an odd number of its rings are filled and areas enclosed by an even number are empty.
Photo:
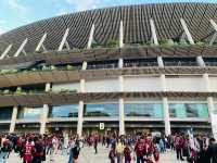
M99 9L5 33L0 130L216 137L216 37L213 3Z

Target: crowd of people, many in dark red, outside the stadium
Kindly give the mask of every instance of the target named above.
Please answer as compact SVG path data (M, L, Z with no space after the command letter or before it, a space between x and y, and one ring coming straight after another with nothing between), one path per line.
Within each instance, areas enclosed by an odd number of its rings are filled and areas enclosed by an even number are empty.
M99 146L107 149L111 163L158 163L161 153L174 151L177 160L190 163L217 163L217 143L205 135L139 133L118 136L116 134L99 135L97 133L78 137L62 134L4 134L0 136L0 163L7 163L12 152L23 163L52 162L55 154L67 155L68 163L77 163L84 147L93 148L98 154Z

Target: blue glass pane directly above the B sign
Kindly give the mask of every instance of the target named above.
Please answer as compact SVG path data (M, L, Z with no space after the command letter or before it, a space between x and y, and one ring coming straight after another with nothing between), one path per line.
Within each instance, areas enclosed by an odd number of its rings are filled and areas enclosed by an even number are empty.
M85 104L84 116L118 116L118 103Z

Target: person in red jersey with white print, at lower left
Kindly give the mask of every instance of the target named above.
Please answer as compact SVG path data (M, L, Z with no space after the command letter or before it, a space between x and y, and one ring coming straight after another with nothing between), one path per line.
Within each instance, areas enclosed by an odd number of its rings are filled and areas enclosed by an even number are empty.
M26 142L24 147L24 163L30 163L33 160L33 143L31 139L28 138L28 141Z

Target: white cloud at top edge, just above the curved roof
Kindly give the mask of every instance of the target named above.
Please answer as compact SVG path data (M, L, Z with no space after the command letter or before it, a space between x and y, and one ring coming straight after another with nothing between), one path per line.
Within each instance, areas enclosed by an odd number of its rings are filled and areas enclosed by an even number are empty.
M75 5L77 11L95 9L102 0L66 0L68 4Z

